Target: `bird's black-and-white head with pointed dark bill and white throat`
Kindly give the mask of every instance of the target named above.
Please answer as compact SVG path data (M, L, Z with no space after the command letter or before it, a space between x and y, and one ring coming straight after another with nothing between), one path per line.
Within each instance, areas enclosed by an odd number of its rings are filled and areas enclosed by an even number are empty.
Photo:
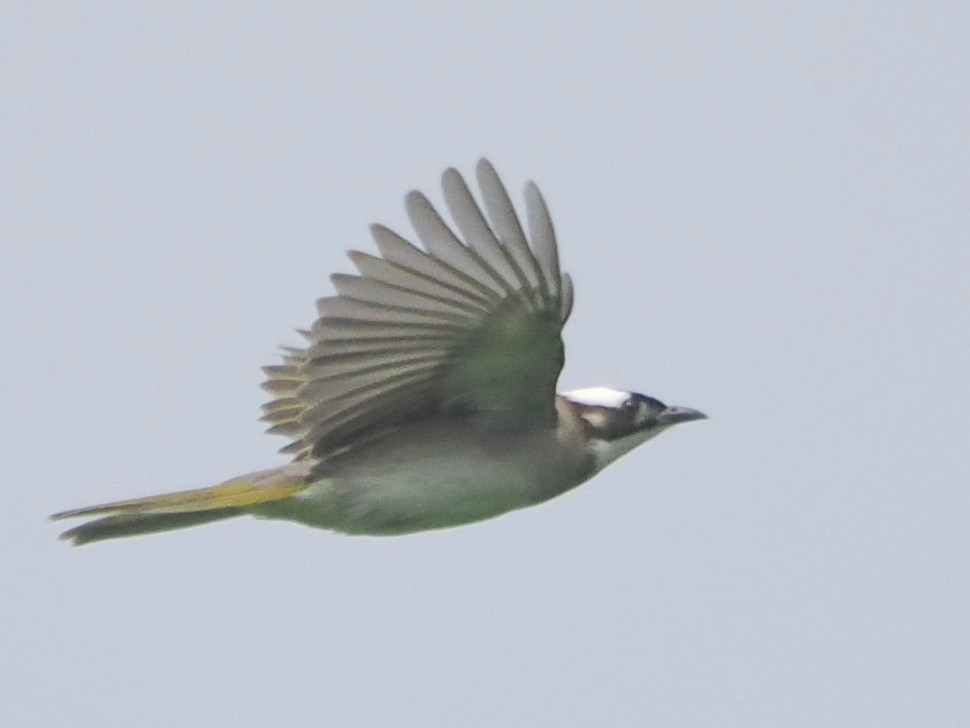
M672 425L707 418L689 407L668 407L653 397L605 387L577 389L562 396L574 405L584 423L595 472Z

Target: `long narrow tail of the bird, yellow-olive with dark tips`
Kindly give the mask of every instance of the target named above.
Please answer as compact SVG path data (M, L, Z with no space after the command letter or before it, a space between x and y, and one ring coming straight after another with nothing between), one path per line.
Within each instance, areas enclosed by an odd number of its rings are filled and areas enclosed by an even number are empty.
M240 516L251 506L284 500L307 486L304 462L241 475L211 488L116 501L55 513L51 520L98 516L61 534L75 546L197 526Z

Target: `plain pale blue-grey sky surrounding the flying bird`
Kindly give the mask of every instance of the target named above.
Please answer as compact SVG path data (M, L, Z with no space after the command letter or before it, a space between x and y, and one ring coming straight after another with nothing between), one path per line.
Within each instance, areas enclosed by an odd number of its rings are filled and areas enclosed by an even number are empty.
M970 725L970 13L327 5L0 12L0 722ZM561 388L709 422L456 530L56 540L281 463L259 366L483 154Z

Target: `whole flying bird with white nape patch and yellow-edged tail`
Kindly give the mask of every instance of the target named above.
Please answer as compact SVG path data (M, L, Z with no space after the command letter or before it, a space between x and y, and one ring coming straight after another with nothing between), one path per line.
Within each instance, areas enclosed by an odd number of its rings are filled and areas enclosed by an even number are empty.
M423 247L372 225L379 251L349 251L305 345L264 367L280 467L218 485L56 513L87 518L74 545L252 515L330 531L404 535L540 504L702 412L635 392L557 394L573 284L539 188L525 227L494 167L476 166L481 204L442 175L449 224L405 197Z

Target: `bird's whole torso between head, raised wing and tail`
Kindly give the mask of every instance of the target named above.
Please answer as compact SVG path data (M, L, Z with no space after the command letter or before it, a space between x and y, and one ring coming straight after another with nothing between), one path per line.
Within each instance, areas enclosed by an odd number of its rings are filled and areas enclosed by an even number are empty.
M338 455L305 490L255 512L367 535L481 521L541 503L592 474L574 424L559 437L558 429L482 427L460 417L427 421Z

